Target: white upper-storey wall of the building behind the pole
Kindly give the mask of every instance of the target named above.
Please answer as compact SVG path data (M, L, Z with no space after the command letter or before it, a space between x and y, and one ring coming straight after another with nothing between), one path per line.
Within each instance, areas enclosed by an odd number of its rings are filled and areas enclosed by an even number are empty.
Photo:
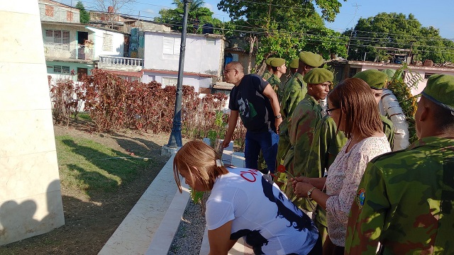
M164 38L175 38L177 54L164 54ZM210 44L209 40L215 40ZM179 64L179 33L145 32L144 69L178 71ZM222 38L207 38L204 35L187 35L186 52L184 54L184 72L201 74L221 74L223 62Z

